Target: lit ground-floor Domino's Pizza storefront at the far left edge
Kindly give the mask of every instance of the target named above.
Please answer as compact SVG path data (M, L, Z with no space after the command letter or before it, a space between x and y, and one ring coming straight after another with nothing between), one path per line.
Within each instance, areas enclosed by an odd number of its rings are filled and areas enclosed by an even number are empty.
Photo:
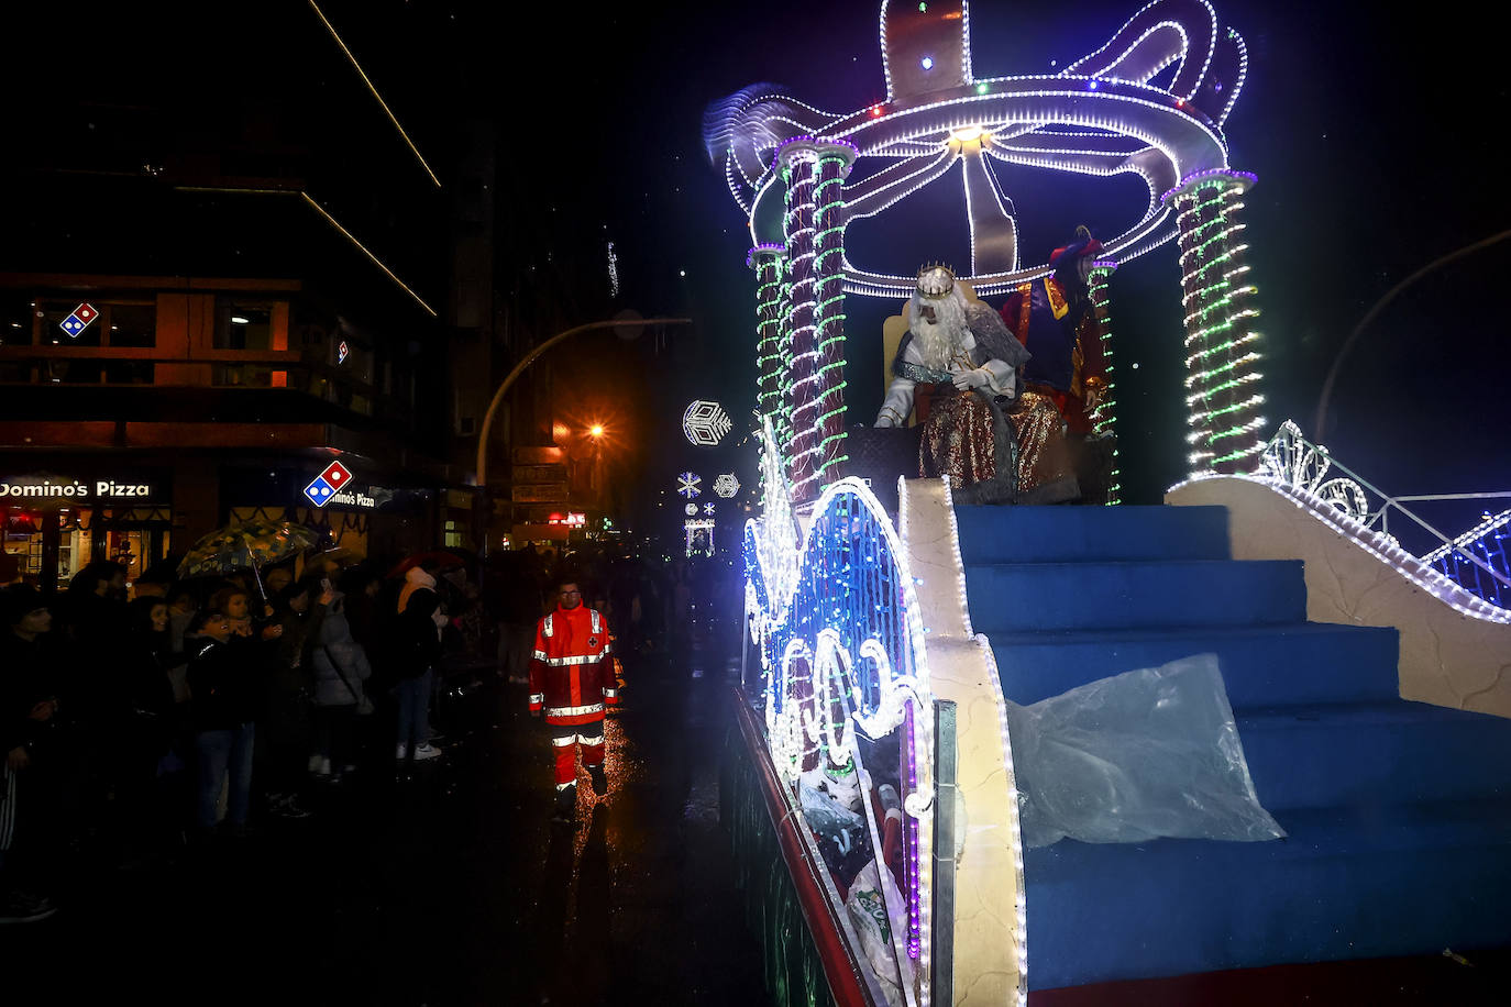
M62 587L92 559L112 559L136 580L174 548L172 503L166 470L0 471L0 583Z

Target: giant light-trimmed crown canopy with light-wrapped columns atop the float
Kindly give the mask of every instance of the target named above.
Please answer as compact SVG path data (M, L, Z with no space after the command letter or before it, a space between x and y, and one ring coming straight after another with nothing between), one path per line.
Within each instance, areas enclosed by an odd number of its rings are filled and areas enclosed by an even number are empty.
M843 460L845 294L914 287L852 258L852 220L958 168L972 258L961 279L993 294L1050 272L1020 261L1017 208L993 162L1144 180L1142 216L1103 242L1098 303L1112 263L1179 239L1192 474L1250 467L1265 420L1241 210L1256 180L1228 165L1222 134L1247 69L1238 32L1206 0L1154 0L1058 74L978 77L967 0L885 0L881 51L885 101L823 112L756 85L704 121L749 223L757 405L784 445L793 500L813 500ZM1111 408L1097 421L1111 424Z

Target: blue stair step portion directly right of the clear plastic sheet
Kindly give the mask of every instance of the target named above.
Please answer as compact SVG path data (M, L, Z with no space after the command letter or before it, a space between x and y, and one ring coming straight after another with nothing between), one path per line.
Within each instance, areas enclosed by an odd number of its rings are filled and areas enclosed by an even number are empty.
M1259 803L1511 800L1511 720L1398 699L1234 710Z

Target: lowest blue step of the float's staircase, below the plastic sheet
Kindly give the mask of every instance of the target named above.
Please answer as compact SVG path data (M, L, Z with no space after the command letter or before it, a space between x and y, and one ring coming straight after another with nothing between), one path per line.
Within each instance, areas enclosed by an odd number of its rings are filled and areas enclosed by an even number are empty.
M1287 839L1027 850L1029 987L1511 944L1511 800L1275 817Z

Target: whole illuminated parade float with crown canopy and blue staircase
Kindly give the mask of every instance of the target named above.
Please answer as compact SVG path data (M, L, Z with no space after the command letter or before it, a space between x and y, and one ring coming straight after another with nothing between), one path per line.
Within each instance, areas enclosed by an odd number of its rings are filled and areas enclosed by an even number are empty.
M1325 450L1292 424L1265 439L1244 263L1254 177L1222 133L1245 75L1238 32L1204 0L1162 0L1061 72L982 77L967 5L914 0L882 5L881 47L885 101L831 113L762 86L706 121L752 237L759 660L724 818L772 996L1024 1002L1031 987L1511 942L1506 522L1416 559ZM994 162L1133 174L1148 199L1121 234L1023 263L1032 208ZM969 270L891 275L846 245L851 222L956 175ZM1018 482L990 503L1026 503L1023 402L1040 393L1014 394L1014 371L1032 374L1000 341L1015 308L996 328L982 299L1021 305L1012 332L1032 338L1031 299L1047 291L1062 317L1050 281L1073 284L1085 260L1095 325L1076 337L1079 380L1088 338L1111 358L1112 270L1166 242L1191 473L1166 506L961 503L972 479L919 477L922 421L895 506L857 477L846 294L910 300L884 350L888 403L907 394L876 426L901 436L916 388L953 383L956 402L985 403L972 408L988 441L1014 438L996 471L1017 465ZM926 343L950 305L964 362L914 362L908 340ZM1114 373L1070 393L1086 442L1114 429ZM1035 408L1064 409L1064 393ZM697 485L686 473L689 504ZM1098 503L1118 503L1115 471L1105 489ZM1091 708L1123 720L1088 722ZM1160 765L1154 779L1185 788L1133 793Z

